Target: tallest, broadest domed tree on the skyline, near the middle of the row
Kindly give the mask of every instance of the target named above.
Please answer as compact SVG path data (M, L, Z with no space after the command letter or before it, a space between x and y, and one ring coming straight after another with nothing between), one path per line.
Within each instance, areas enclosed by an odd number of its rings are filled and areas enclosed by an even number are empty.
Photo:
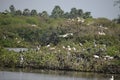
M53 18L59 18L63 17L64 11L60 8L60 6L55 6L52 10L51 17Z

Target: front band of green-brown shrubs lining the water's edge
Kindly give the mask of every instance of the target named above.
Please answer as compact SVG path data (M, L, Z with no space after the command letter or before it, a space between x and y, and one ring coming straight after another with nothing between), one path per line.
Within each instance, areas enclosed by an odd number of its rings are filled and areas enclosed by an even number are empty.
M104 55L96 59L89 53L46 50L22 53L5 50L0 67L120 74L119 59L104 60Z

